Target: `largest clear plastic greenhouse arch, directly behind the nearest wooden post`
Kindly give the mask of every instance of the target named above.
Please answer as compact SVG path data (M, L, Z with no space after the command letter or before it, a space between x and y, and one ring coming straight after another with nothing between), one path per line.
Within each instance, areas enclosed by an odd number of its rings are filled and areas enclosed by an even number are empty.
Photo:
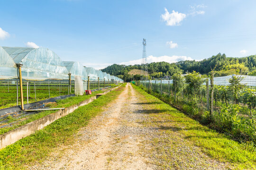
M68 71L57 54L44 48L3 47L26 80L68 79Z

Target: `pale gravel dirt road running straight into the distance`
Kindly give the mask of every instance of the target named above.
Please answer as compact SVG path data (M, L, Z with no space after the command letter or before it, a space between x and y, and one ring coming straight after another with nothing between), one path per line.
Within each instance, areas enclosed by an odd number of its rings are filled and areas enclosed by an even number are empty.
M58 150L63 152L52 153L47 161L30 169L226 169L226 165L210 159L197 147L187 145L182 136L168 136L161 133L160 127L145 123L154 118L145 113L144 104L146 102L141 101L137 91L127 84L117 100L79 131L76 136L78 141L73 146L60 146ZM179 150L166 152L172 149L168 146L169 138L179 144ZM158 139L159 141L153 142ZM168 141L163 143L160 139Z

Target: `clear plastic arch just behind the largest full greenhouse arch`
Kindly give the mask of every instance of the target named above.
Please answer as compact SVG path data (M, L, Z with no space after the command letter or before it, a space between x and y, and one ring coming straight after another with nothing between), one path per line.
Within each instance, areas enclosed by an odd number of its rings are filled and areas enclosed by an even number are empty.
M88 74L81 63L75 61L63 61L63 63L68 72L71 74L72 80L75 80L75 76L82 77L82 80L84 81L88 80Z

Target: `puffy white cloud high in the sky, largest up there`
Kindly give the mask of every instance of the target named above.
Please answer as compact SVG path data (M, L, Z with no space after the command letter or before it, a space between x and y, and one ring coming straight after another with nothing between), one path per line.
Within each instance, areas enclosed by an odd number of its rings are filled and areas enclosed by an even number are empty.
M165 14L162 14L161 17L167 26L179 26L180 22L186 17L186 14L175 12L174 10L170 14L165 8Z

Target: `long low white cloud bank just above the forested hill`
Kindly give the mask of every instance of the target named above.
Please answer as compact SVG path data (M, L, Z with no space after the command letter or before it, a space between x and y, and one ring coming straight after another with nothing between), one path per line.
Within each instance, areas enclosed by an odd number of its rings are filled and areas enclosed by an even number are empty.
M191 57L187 56L160 56L160 57L154 57L154 56L148 56L147 57L147 63L152 63L152 62L160 62L160 61L165 61L168 63L174 63L178 62L181 60L193 60ZM124 64L124 65L135 65L135 64L141 64L141 59L135 59L135 60L130 60L127 62L121 62L119 64Z

